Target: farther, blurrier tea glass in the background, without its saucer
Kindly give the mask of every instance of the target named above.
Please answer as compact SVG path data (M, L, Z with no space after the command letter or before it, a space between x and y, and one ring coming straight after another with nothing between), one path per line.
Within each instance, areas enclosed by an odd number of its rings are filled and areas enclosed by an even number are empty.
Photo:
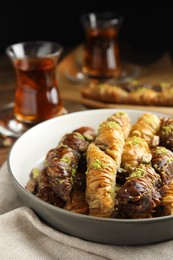
M91 78L119 77L122 71L118 45L121 15L111 12L81 16L85 33L82 72Z

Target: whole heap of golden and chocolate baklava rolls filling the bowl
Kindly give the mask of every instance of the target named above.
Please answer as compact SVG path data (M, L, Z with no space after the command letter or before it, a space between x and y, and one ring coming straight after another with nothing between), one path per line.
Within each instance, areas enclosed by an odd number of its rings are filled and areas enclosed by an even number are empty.
M68 211L103 218L173 214L173 118L125 112L64 134L26 188Z

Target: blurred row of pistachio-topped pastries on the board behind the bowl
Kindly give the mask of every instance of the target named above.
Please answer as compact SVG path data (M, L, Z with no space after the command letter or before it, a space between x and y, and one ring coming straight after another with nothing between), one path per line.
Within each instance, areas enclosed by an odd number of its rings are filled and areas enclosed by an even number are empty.
M131 104L145 106L173 106L173 86L129 81L123 84L91 84L82 89L85 98L114 104Z

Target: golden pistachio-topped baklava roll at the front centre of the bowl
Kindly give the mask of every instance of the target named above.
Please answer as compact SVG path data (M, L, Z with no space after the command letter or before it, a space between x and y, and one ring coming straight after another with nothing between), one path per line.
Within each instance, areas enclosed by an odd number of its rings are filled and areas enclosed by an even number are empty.
M87 150L86 202L89 215L109 218L114 210L115 161L91 143Z

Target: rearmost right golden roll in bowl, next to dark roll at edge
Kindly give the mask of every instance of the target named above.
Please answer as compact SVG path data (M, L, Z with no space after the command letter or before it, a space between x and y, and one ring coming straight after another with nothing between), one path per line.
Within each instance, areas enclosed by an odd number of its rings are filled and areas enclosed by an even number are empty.
M138 136L148 143L149 147L159 144L160 118L152 113L140 116L132 126L129 136Z

